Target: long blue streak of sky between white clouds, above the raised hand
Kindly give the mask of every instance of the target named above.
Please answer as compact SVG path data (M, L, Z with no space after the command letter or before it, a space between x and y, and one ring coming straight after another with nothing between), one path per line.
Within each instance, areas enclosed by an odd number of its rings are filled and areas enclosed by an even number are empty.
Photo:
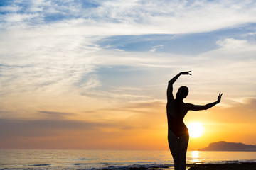
M132 52L165 52L181 55L198 55L220 47L216 42L225 38L245 39L246 33L255 30L255 24L235 28L223 28L206 33L185 33L172 35L120 35L111 36L99 41L100 47L118 48ZM247 40L255 40L247 35Z

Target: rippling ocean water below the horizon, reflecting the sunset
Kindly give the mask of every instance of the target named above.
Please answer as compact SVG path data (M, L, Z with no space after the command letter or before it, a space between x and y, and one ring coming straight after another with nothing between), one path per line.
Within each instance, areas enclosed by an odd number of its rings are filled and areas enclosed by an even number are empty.
M256 152L188 151L187 163L256 162ZM1 149L0 169L174 169L169 151Z

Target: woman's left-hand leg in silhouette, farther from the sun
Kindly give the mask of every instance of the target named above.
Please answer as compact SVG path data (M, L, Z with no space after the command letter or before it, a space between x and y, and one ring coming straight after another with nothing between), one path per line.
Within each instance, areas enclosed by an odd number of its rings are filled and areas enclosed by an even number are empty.
M171 155L174 158L174 169L178 170L178 167L180 166L179 139L174 135L174 132L171 132L171 130L168 130L168 142Z

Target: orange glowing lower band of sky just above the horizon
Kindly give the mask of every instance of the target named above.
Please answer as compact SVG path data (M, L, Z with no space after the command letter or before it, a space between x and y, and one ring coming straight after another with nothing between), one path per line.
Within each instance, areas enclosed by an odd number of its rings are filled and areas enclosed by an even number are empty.
M197 121L206 128L202 137L190 139L188 149L207 147L209 142L220 140L254 144L255 102L255 98L248 98L243 103L188 112L185 123ZM35 114L37 118L1 118L1 148L168 149L164 101L99 107L81 114L50 111Z

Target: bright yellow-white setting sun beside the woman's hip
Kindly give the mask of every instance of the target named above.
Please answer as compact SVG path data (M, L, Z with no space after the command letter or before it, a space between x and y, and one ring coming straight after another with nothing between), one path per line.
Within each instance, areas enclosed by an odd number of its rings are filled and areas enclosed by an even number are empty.
M193 138L201 137L205 132L203 123L199 123L199 122L188 123L187 127L188 127L189 136Z

